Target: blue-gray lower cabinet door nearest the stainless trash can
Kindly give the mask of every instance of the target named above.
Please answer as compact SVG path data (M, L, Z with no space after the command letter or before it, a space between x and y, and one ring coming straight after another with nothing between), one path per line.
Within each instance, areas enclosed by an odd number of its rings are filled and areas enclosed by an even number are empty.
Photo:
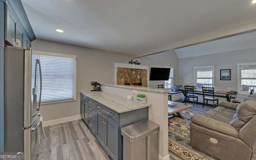
M113 160L118 160L118 128L118 123L106 116L104 148Z

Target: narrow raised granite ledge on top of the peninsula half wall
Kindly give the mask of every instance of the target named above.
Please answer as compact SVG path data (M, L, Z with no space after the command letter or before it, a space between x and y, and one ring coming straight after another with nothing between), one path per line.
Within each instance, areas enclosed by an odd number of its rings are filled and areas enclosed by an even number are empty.
M120 88L131 88L133 90L147 90L147 91L162 92L162 93L167 93L171 91L171 89L164 89L164 88L150 88L150 87L126 86L126 85L115 85L115 84L100 84L100 85L120 87Z

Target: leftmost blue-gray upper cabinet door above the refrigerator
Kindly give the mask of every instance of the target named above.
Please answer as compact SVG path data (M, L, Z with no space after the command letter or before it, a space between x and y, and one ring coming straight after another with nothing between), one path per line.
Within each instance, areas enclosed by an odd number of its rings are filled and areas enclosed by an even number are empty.
M16 46L16 25L17 20L12 14L9 7L6 6L6 25L5 25L5 37L4 40L8 41L9 44Z

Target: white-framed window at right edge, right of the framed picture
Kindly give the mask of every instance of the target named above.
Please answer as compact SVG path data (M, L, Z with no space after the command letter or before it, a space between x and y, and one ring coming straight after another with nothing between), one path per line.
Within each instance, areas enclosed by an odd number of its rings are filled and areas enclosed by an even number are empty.
M250 92L256 89L256 62L238 64L238 90L239 92Z

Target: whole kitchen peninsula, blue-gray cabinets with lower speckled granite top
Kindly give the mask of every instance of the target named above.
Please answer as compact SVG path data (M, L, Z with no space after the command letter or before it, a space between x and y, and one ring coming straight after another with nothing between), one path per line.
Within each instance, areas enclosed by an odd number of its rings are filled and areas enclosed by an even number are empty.
M123 159L120 129L148 120L148 107L108 92L81 91L81 118L113 160Z

